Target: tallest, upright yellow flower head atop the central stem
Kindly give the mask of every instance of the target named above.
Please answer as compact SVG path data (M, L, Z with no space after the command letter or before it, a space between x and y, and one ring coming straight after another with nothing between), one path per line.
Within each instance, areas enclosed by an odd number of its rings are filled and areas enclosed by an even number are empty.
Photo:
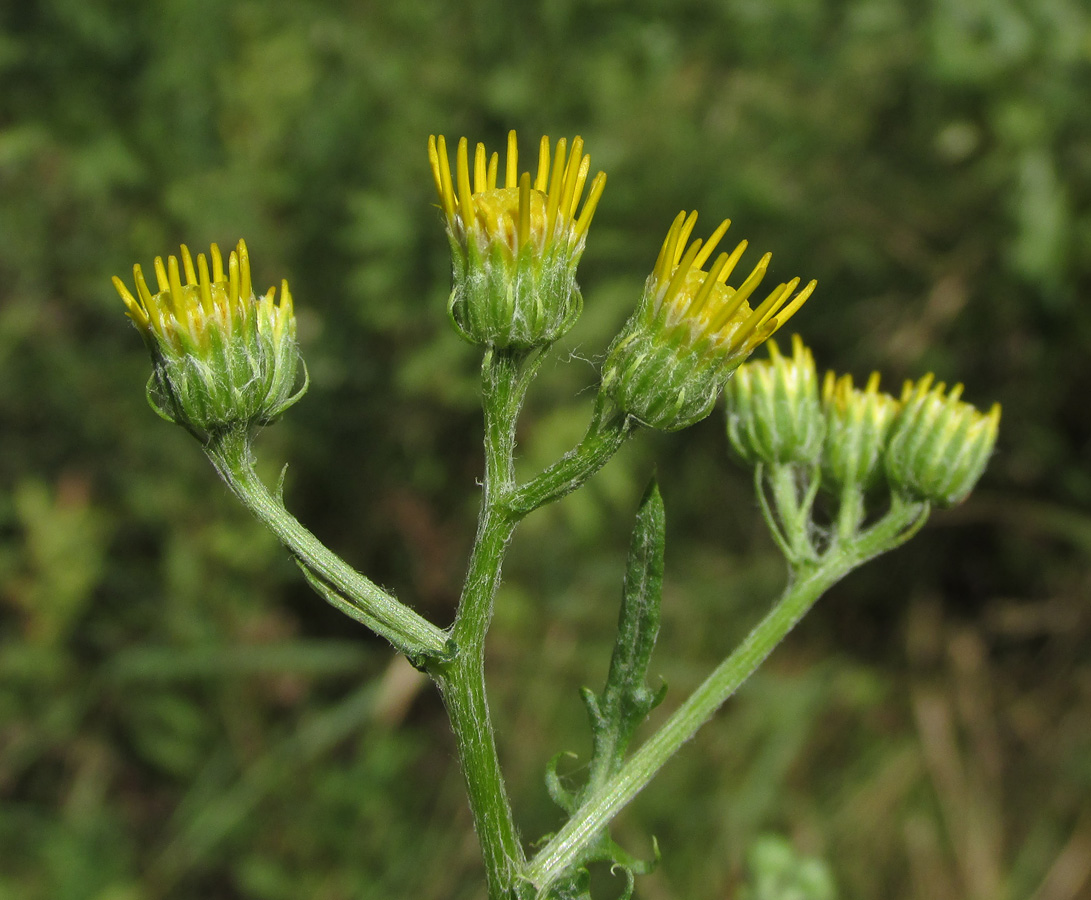
M443 136L428 142L432 177L451 241L453 281L447 311L467 340L493 347L550 344L575 323L583 300L576 265L607 177L599 172L579 206L590 157L583 139L551 147L542 137L538 170L519 173L515 132L500 184L500 158L458 142L454 178ZM472 175L472 181L471 181Z

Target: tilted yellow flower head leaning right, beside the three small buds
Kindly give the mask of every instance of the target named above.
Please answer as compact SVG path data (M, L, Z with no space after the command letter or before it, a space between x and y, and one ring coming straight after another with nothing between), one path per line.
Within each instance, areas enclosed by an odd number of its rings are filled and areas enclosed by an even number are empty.
M680 213L659 252L636 312L614 339L602 369L602 389L640 422L676 431L704 419L731 373L787 322L815 288L808 284L789 302L800 279L779 285L757 307L747 300L765 277L766 253L738 287L726 281L746 241L711 256L731 224L724 220L707 242L686 247L697 214Z

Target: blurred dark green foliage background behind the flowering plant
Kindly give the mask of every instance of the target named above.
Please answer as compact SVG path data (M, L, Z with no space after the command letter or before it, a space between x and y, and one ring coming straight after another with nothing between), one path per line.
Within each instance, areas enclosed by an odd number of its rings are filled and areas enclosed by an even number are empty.
M109 277L244 237L255 283L288 278L312 383L263 471L446 624L480 411L425 141L513 127L609 173L527 471L582 433L682 208L818 279L793 325L819 367L1004 404L971 500L831 591L619 820L662 849L638 895L732 898L779 833L842 898L1091 897L1089 110L1084 0L4 3L0 898L482 897L434 693L147 408ZM490 667L528 839L560 824L547 760L586 759L654 468L664 708L782 583L719 416L525 523Z

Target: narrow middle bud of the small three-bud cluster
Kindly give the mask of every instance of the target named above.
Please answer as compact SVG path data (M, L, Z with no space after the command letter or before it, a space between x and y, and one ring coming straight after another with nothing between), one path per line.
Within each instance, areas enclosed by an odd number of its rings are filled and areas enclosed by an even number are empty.
M883 471L883 454L898 415L898 400L879 392L878 372L872 373L863 391L853 387L852 375L837 377L827 372L822 403L826 417L823 479L834 489L871 488Z

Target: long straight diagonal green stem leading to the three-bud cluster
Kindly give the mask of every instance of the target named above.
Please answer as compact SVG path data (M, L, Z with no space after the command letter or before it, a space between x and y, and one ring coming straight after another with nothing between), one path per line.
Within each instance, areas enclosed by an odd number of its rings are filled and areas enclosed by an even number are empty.
M795 566L794 577L765 619L530 861L526 876L539 896L739 689L826 590L856 566L901 543L926 516L926 504L895 501L889 513L852 547L838 548L818 563Z

